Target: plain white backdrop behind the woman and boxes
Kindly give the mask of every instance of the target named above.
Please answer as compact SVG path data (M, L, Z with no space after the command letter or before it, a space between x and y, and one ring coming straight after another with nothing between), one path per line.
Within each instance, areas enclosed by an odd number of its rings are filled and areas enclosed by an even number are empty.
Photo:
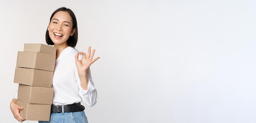
M96 49L89 123L255 123L255 0L1 0L1 123L18 51L45 43L52 12L78 20L76 49ZM36 123L25 121L24 123Z

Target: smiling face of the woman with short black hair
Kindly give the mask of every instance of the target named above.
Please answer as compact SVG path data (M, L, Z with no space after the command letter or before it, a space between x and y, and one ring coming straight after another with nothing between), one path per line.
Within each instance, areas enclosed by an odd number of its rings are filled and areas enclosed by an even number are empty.
M75 32L72 26L72 18L68 12L58 11L55 13L47 29L54 45L67 46L67 39Z

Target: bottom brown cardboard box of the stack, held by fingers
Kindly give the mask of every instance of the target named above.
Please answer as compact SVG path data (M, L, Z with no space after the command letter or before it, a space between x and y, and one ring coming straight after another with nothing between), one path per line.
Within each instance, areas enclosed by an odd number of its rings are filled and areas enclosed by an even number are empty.
M51 114L51 105L29 104L18 99L18 105L23 107L20 110L22 118L30 121L49 121Z

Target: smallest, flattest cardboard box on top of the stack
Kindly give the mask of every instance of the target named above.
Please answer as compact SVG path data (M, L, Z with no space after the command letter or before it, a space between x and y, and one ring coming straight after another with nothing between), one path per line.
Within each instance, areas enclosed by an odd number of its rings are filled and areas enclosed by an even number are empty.
M47 54L56 55L56 47L41 44L41 43L25 43L24 44L24 51L44 52L44 53L47 53Z

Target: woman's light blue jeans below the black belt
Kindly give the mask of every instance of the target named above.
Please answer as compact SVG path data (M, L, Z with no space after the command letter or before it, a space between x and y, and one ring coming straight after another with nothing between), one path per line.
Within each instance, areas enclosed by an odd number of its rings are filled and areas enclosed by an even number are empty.
M38 123L88 123L85 112L51 113L50 121L38 121Z

